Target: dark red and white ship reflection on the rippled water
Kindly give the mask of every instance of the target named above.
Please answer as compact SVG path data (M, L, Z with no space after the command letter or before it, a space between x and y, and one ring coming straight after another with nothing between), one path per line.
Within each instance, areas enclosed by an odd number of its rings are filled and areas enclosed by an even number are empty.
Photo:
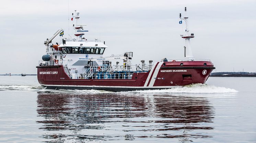
M37 97L38 116L44 117L37 122L49 142L210 138L214 112L196 95L39 92Z

